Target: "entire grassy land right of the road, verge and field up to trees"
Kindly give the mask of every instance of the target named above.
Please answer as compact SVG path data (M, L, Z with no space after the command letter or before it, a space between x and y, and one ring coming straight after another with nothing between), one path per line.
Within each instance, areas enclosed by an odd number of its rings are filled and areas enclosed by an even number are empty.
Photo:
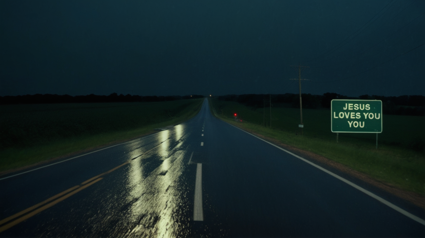
M339 133L339 143L336 143L336 135L331 133L329 110L303 109L305 127L300 136L299 109L272 108L270 129L269 108L265 113L267 127L264 127L262 108L255 110L237 102L216 99L211 99L210 104L216 116L229 123L425 195L425 153L421 144L417 144L424 140L424 117L383 115L383 129L378 135L378 149L375 149L376 134L373 133ZM238 113L242 123L232 120L233 113Z

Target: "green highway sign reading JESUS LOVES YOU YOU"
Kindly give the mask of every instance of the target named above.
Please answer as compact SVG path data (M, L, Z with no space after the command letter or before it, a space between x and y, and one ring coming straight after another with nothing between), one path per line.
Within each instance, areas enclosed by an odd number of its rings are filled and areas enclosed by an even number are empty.
M331 131L349 133L381 133L381 100L331 101Z

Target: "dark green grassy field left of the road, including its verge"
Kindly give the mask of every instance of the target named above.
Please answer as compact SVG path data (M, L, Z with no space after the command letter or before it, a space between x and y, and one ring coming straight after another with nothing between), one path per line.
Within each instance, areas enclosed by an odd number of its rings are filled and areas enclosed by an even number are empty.
M0 106L0 171L16 169L190 119L203 99Z

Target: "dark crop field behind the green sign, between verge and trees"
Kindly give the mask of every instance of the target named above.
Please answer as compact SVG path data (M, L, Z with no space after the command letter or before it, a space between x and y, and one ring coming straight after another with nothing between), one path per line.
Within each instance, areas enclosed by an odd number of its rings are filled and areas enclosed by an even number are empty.
M214 101L218 113L233 118L233 113L243 121L270 127L270 108L251 109L237 102ZM272 128L290 133L299 133L299 108L272 107ZM336 133L331 132L331 111L320 109L303 109L303 135L326 140L335 140ZM378 134L378 145L388 144L412 150L423 151L425 147L425 117L424 116L382 116L382 133ZM360 144L376 144L376 133L339 133L339 142L355 142Z

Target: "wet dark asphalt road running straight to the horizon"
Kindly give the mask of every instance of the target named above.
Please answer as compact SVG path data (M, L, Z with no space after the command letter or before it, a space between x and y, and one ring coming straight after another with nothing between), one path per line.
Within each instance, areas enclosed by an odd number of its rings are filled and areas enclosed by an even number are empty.
M0 237L425 236L420 221L214 118L207 100L168 130L0 179Z

